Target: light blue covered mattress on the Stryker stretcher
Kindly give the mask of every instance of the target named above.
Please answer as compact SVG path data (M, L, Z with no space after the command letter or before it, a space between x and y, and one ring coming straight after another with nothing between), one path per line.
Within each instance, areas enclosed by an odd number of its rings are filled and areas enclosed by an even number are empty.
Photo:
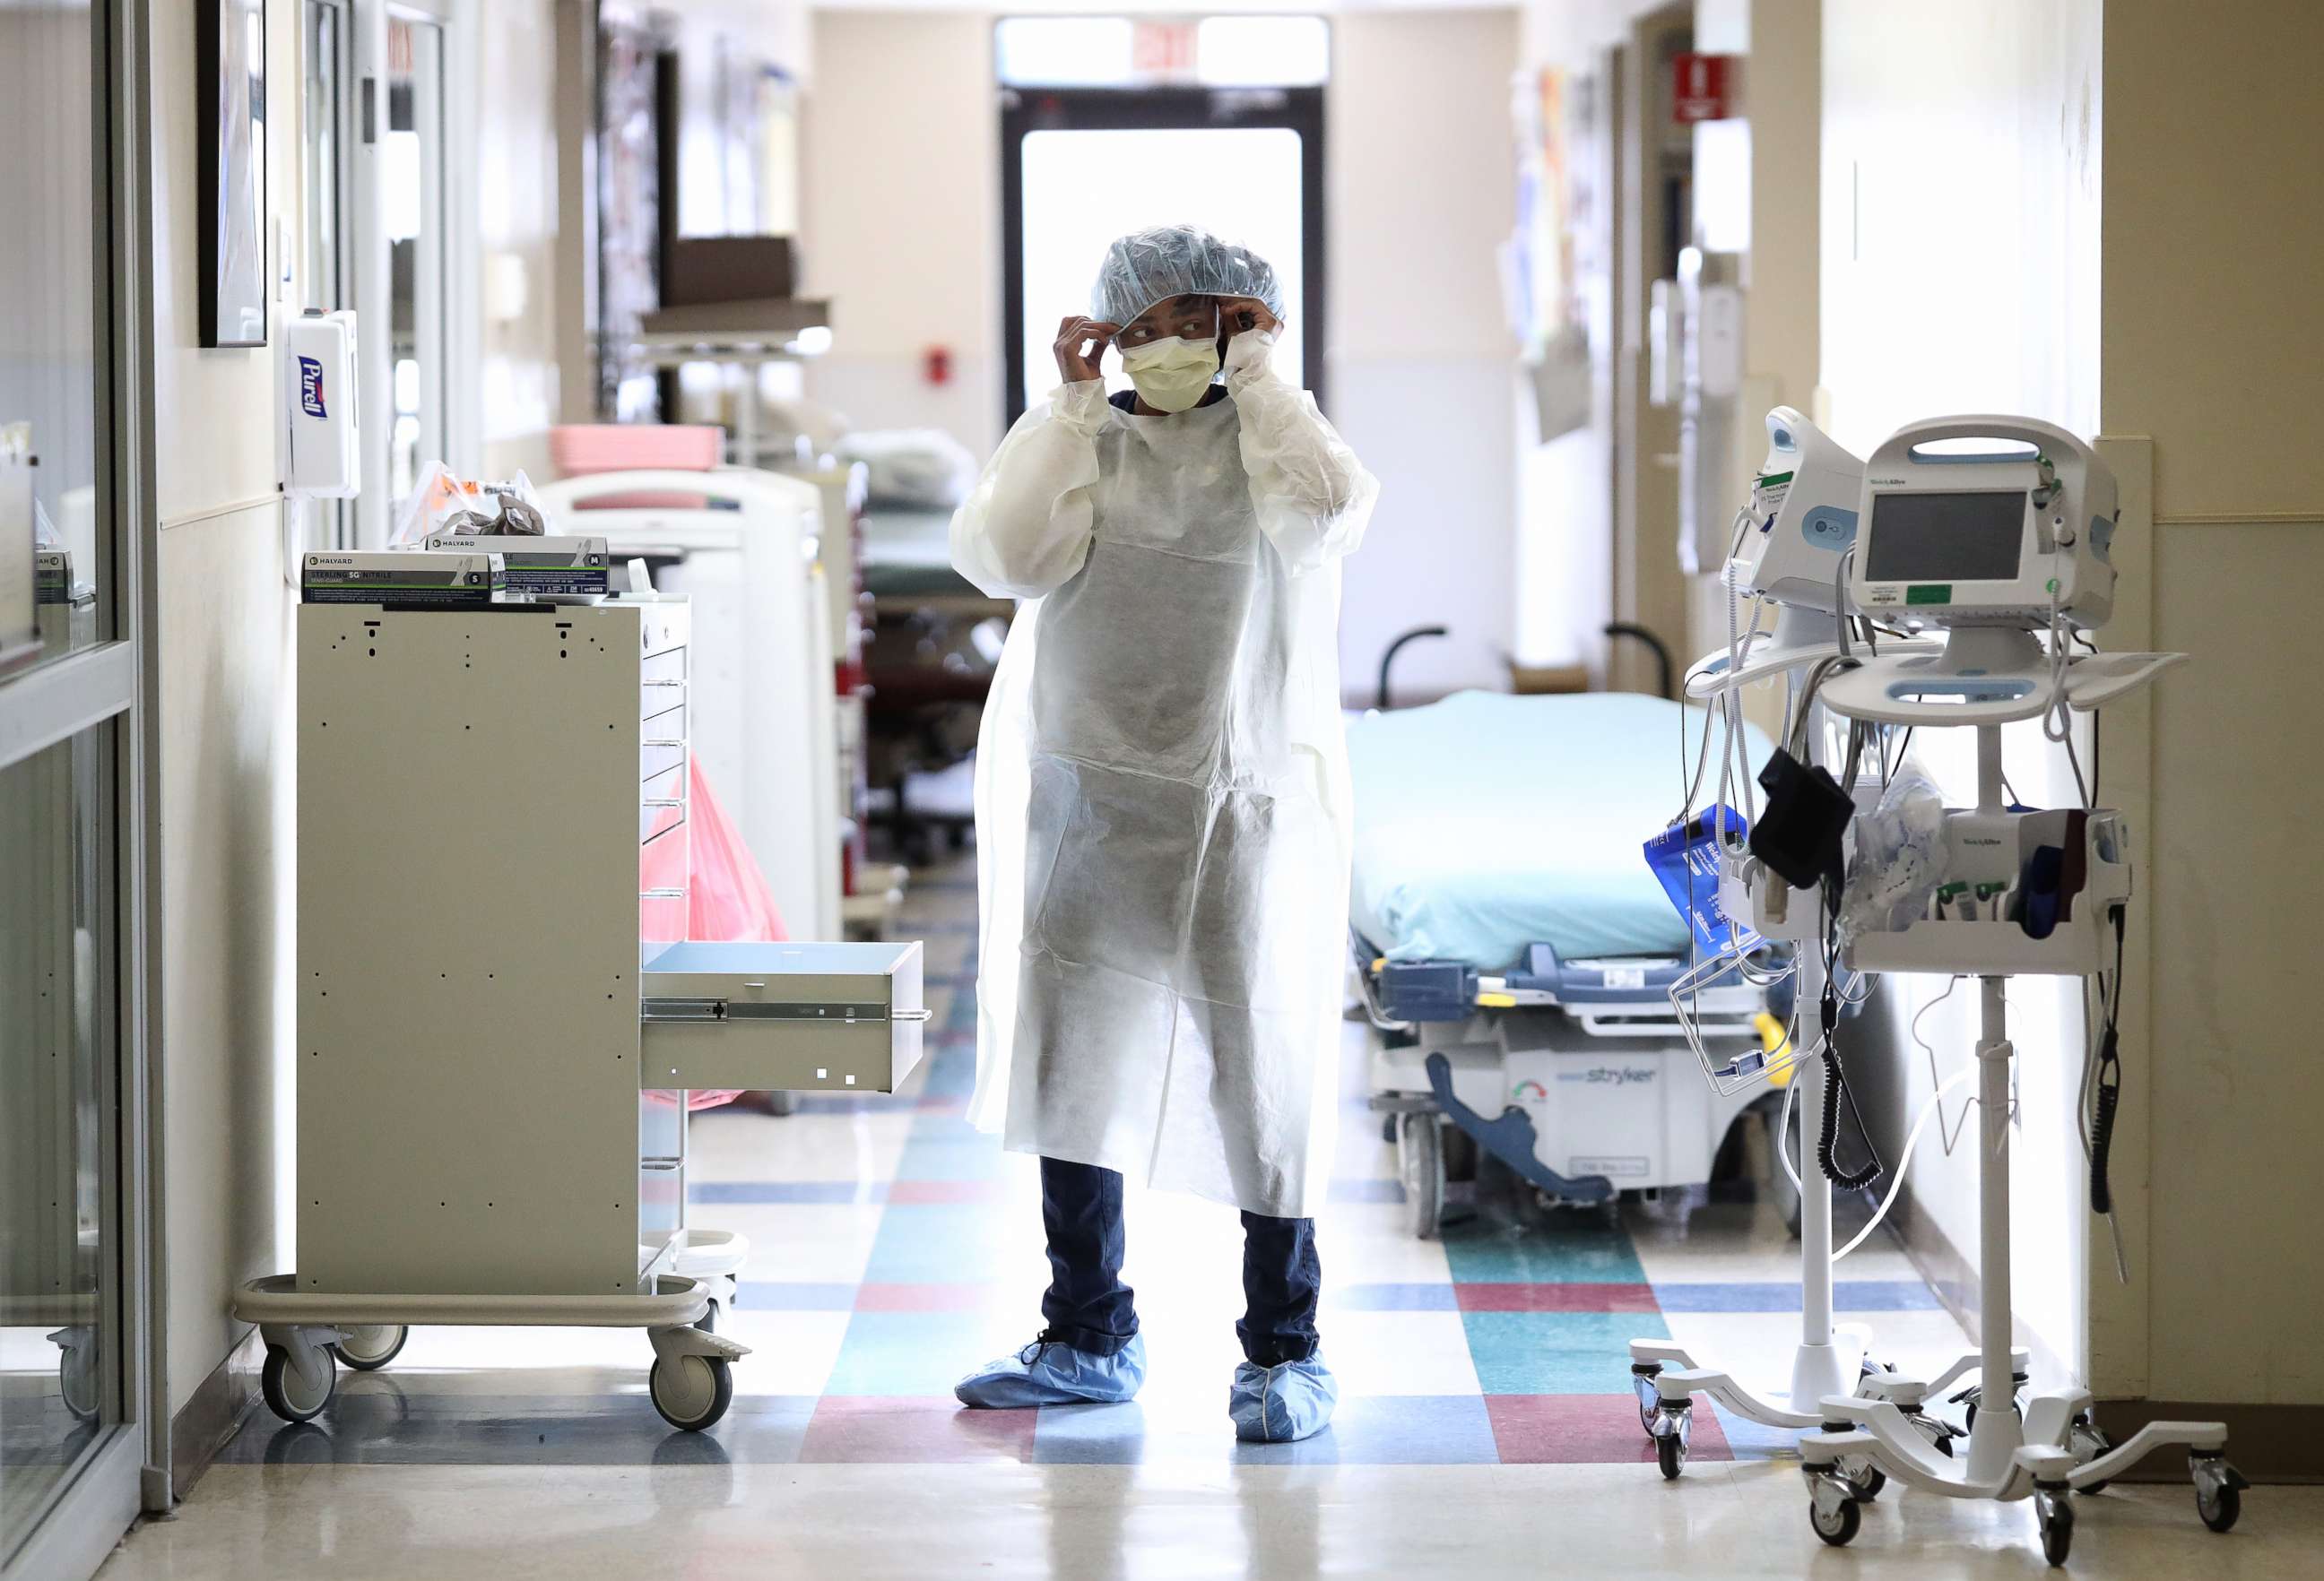
M1687 708L1687 764L1701 729ZM1757 773L1771 745L1750 731L1748 750ZM1685 794L1678 703L1457 692L1350 720L1348 764L1350 919L1387 959L1504 970L1536 943L1569 961L1687 950L1641 854ZM1706 801L1715 785L1717 764Z

